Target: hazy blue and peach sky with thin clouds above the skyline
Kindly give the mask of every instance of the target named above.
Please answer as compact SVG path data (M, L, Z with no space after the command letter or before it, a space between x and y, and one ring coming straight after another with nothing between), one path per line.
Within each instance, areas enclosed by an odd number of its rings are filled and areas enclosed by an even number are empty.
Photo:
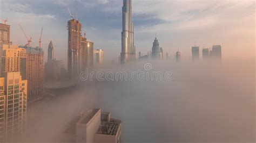
M0 17L8 18L14 44L26 44L18 23L31 35L32 46L38 46L43 26L45 52L52 39L56 58L66 60L68 5L82 22L87 39L104 49L105 58L120 55L121 0L1 0L0 5ZM191 58L195 44L200 48L221 45L224 59L254 58L255 1L134 0L132 6L137 53L150 51L157 33L164 52L173 55L179 48L184 59Z

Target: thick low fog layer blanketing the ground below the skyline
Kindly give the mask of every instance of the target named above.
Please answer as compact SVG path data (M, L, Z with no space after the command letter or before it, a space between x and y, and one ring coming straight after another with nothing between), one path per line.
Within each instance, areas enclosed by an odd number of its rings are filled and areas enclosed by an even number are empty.
M255 141L254 61L151 64L171 71L172 81L85 82L29 112L29 140L64 142L60 132L75 115L102 108L122 120L123 142ZM125 71L143 69L144 62L135 65Z

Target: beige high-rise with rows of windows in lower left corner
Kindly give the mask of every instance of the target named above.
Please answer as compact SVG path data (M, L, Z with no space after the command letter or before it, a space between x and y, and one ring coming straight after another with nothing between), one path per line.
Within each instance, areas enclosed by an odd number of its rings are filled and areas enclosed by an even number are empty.
M0 128L2 142L18 142L26 130L27 81L21 73L0 78Z

